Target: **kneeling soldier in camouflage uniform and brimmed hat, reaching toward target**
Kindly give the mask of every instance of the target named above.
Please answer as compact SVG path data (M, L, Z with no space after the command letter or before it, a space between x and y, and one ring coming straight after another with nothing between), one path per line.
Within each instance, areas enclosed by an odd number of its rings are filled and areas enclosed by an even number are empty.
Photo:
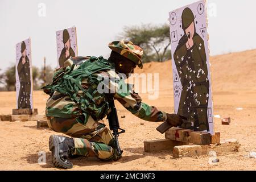
M52 135L49 138L49 150L56 167L72 168L69 158L75 156L96 156L105 161L121 158L112 132L99 122L110 113L109 103L113 99L145 121L167 121L172 126L183 122L175 114L143 103L119 76L119 73L129 76L137 66L142 69L142 48L126 41L112 42L109 48L112 52L108 60L102 56L67 60L64 68L55 73L53 82L43 88L51 96L46 104L49 127L72 137ZM102 93L99 89L102 80L107 80L104 86L108 92Z

